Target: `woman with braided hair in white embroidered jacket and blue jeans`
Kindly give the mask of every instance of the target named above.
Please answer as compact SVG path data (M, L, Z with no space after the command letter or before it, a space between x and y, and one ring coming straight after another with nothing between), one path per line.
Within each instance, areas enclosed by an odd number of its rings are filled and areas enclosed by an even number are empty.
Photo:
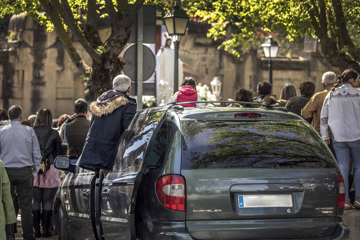
M360 209L360 91L355 89L359 73L345 70L326 96L321 109L321 137L330 144L328 128L333 133L337 162L345 181L345 210L352 209L348 192L350 159L354 163L355 201Z

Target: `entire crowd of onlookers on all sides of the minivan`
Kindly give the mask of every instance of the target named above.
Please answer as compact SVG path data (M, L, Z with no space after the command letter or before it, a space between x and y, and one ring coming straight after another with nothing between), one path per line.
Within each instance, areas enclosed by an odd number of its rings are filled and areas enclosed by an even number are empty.
M348 69L336 77L323 74L324 91L314 94L315 84L300 84L299 96L290 83L283 85L279 99L272 95L269 82L257 85L257 97L252 91L239 89L234 99L246 103L231 103L229 107L257 108L271 104L284 107L308 121L333 151L343 173L346 187L345 209L360 209L360 91L355 89L359 74ZM104 92L89 105L84 99L74 102L74 114L53 119L51 111L40 108L27 119L23 109L13 105L0 109L0 238L5 239L5 225L16 222L21 210L23 239L51 236L53 199L66 172L54 168L54 159L67 155L71 164L82 169L100 170L106 176L110 159L122 132L136 113L136 100L129 96L131 80L119 75L113 89ZM196 82L186 77L169 103L199 101ZM183 107L201 107L201 103ZM91 112L91 121L87 119ZM114 124L114 123L117 124ZM111 131L109 131L111 129ZM348 193L348 173L354 165L355 201ZM1 201L0 201L1 202ZM42 226L42 231L41 227Z

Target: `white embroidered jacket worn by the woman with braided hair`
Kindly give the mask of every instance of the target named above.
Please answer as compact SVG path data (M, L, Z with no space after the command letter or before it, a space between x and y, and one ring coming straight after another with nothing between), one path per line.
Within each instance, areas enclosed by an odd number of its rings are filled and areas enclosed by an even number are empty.
M360 139L360 91L344 83L326 95L320 116L320 131L323 140L329 139L328 127L337 142Z

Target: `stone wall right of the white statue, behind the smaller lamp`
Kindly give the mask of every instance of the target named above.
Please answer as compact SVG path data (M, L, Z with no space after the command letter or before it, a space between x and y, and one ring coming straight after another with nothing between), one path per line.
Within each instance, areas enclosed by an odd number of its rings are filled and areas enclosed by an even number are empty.
M189 23L188 33L182 37L179 56L187 65L184 75L192 75L197 82L210 85L214 76L222 82L223 99L234 98L239 88L247 88L256 94L258 82L269 81L268 59L257 55L257 50L243 50L240 58L218 50L220 41L206 37L208 25ZM273 94L280 96L284 83L291 83L299 92L302 81L315 83L315 92L322 91L321 77L324 72L341 74L338 68L330 66L320 52L317 40L306 36L304 49L299 58L273 59Z

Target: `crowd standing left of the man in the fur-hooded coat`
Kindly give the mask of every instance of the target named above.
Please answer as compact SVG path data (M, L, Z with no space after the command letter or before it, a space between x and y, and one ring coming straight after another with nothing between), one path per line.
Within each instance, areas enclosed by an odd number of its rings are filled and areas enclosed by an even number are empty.
M19 209L23 239L51 236L53 200L65 175L54 167L54 160L68 155L76 163L90 126L87 107L84 99L78 99L72 116L56 119L48 108L40 108L28 119L18 105L0 109L0 180L3 193L8 190L8 195L0 194L3 203L8 203L3 204L4 216L0 211L0 239L5 239L5 224L14 223L17 231Z

